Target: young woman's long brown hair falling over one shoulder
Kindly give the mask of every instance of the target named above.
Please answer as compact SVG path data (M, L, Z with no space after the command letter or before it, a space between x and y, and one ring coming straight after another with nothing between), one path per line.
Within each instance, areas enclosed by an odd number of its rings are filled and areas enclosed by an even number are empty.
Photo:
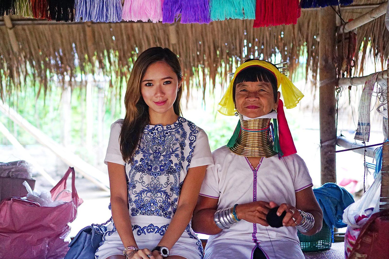
M138 56L127 83L127 91L124 97L126 116L120 133L120 151L123 160L127 163L131 162L131 158L139 145L143 129L150 121L148 106L141 94L141 81L147 68L156 62L165 62L176 73L178 82L182 80L180 60L168 48L153 47ZM181 95L182 88L179 88L177 98L173 104L174 112L177 115L181 115Z

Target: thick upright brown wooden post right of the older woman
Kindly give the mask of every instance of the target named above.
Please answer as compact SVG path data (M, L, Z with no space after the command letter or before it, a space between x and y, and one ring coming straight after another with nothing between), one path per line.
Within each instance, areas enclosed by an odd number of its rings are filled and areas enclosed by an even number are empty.
M336 183L336 125L335 125L335 39L336 14L331 7L320 10L319 44L319 105L321 183Z

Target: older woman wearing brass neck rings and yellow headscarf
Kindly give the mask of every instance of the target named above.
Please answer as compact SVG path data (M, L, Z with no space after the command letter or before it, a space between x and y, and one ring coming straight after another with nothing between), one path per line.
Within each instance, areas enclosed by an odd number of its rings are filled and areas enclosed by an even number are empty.
M287 108L303 97L273 64L249 60L238 67L219 112L239 115L228 142L213 152L192 218L198 233L212 235L205 258L304 258L297 229L313 235L322 211L312 179L296 154L278 89ZM273 123L270 123L273 119ZM280 136L280 137L279 137ZM278 207L282 227L266 215Z

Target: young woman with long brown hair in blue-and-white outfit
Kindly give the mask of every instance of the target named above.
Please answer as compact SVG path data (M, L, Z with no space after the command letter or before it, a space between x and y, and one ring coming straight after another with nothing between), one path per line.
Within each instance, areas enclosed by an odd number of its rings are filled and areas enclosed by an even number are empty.
M205 132L180 116L182 73L169 49L134 63L126 116L111 125L108 165L113 222L97 259L200 259L190 220L207 166Z

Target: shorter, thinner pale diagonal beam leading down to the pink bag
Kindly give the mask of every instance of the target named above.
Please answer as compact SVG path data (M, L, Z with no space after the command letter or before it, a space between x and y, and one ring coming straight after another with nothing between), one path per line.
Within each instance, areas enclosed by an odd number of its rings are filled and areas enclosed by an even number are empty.
M28 153L28 151L19 143L19 141L12 136L12 134L7 130L7 127L0 122L0 133L2 133L8 141L17 149L19 155L23 160L26 160L28 163L32 164L32 166L36 169L38 173L40 173L46 180L54 187L57 182L45 171L45 169L36 162L34 158Z

